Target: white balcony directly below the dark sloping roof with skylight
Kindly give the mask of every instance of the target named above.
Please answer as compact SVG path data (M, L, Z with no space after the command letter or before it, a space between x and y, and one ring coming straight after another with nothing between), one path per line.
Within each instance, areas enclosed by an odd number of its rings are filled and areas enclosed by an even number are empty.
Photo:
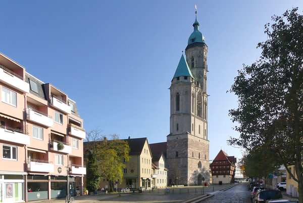
M27 108L26 115L27 115L26 118L28 120L31 120L31 121L41 124L43 126L54 127L54 120L53 120L52 116L49 116L43 112L40 112L35 109Z

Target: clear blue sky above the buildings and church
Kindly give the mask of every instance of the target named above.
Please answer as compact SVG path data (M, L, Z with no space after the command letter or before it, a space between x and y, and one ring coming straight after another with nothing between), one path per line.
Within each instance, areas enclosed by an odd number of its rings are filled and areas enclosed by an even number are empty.
M3 1L0 52L75 100L88 132L147 137L169 134L170 81L193 30L194 5L208 53L210 158L228 146L226 93L242 64L260 56L264 25L302 1Z

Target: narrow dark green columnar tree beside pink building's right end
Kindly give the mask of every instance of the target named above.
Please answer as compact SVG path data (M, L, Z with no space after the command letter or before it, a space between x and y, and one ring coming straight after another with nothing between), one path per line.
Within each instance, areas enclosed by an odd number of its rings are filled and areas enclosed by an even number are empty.
M88 191L97 190L99 188L100 174L98 169L98 161L96 154L90 150L87 151L87 175L86 186Z

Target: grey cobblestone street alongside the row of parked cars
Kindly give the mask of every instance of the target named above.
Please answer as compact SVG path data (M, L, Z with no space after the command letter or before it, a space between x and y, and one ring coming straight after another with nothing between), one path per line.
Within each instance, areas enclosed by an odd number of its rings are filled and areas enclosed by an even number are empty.
M250 191L247 183L240 183L226 191L220 191L201 203L250 203Z

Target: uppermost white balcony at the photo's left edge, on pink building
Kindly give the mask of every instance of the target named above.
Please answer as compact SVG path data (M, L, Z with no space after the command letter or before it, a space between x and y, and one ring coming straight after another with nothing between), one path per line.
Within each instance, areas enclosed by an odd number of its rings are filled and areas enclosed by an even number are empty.
M23 77L2 65L0 65L0 80L23 93L29 93L29 84L23 80Z

